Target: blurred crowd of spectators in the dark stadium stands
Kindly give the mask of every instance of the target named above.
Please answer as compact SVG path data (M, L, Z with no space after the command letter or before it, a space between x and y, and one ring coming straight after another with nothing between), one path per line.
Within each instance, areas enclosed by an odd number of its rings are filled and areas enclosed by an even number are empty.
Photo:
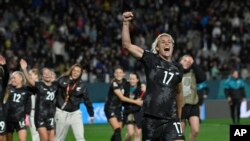
M0 53L11 71L25 58L57 74L78 62L83 78L108 81L114 67L141 64L121 49L121 14L132 10L133 42L145 49L162 32L175 39L174 58L191 54L208 79L232 68L250 77L249 0L0 0Z

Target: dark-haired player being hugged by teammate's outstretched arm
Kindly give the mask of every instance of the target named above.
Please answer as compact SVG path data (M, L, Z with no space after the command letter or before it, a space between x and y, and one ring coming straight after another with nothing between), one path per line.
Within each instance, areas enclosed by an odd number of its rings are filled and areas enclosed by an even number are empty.
M145 87L141 84L139 75L136 72L130 73L128 81L127 87L129 93L126 93L125 96L131 99L142 98L145 92ZM141 107L125 103L123 114L124 124L127 125L126 141L132 141L133 138L135 141L140 141L142 121Z

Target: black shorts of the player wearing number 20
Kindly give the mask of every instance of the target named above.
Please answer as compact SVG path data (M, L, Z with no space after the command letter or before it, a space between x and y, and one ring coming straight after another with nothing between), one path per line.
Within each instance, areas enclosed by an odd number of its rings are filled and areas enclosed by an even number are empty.
M51 118L35 118L36 129L45 127L47 130L52 130L55 128L55 119Z

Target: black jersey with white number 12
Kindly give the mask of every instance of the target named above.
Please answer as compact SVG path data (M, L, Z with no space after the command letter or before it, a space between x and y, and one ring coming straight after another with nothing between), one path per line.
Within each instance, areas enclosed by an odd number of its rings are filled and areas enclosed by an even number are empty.
M9 98L7 101L7 121L18 121L21 118L25 118L27 114L27 104L31 94L27 87L15 88L11 85L9 89Z

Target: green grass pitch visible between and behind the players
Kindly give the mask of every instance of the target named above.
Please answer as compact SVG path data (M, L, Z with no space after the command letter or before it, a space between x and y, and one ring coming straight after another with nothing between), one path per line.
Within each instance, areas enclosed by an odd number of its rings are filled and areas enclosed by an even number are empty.
M202 121L198 141L229 141L230 119L206 119ZM242 125L250 125L250 119L241 119ZM109 141L112 135L112 129L108 124L86 124L84 125L85 138L87 141ZM186 139L188 138L189 126L186 130ZM125 128L122 130L123 140ZM16 134L14 135L16 141ZM65 141L74 141L74 135L69 130ZM30 134L27 141L31 141Z

